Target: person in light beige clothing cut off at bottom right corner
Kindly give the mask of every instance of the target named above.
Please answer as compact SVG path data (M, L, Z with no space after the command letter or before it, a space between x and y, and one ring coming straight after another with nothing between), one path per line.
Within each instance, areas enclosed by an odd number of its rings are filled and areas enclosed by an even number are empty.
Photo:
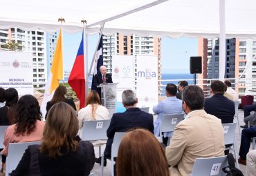
M250 150L246 155L246 175L255 176L256 173L256 150Z

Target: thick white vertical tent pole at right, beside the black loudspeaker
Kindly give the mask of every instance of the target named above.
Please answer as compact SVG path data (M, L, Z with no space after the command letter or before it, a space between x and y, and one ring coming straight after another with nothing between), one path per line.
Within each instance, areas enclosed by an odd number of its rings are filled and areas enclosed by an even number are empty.
M224 81L226 70L225 0L219 0L219 80Z

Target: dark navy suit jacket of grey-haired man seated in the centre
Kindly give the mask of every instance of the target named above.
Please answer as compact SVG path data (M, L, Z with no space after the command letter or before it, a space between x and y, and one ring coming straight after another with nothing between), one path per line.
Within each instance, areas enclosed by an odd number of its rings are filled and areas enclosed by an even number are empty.
M116 132L127 132L131 128L145 128L154 134L153 116L140 108L128 108L124 113L115 113L107 129L105 157L111 157L111 146Z

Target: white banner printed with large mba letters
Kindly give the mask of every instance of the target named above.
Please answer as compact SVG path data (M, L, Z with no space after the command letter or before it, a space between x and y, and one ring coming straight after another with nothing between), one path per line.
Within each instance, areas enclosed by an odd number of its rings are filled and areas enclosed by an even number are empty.
M152 108L158 104L158 58L157 56L137 56L138 107Z

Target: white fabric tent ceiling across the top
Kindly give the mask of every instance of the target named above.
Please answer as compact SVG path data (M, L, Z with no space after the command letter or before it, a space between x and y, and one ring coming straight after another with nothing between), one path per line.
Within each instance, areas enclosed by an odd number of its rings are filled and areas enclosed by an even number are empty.
M82 19L90 25L149 3L158 4L107 21L103 34L219 37L219 0L0 1L0 28L57 32L63 17L64 32L79 32ZM255 0L226 0L226 37L256 38L255 7ZM99 31L100 25L86 28L89 35Z

